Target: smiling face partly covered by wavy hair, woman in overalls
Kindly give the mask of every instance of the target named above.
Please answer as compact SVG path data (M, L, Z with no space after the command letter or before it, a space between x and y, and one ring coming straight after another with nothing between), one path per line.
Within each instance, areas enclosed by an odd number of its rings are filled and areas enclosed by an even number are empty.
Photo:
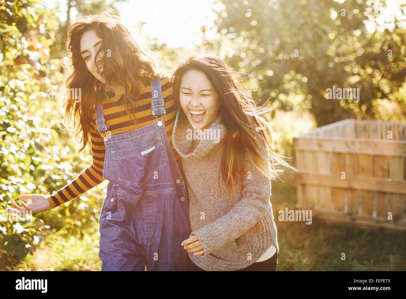
M102 44L102 40L100 37L96 35L94 30L89 30L83 33L82 37L80 38L80 54L86 63L86 67L91 72L93 76L99 81L104 83L103 76L99 73L95 65L95 56L97 50L99 50L100 45ZM103 52L99 53L99 57L97 57L97 63L99 64L99 68L102 70L102 57Z

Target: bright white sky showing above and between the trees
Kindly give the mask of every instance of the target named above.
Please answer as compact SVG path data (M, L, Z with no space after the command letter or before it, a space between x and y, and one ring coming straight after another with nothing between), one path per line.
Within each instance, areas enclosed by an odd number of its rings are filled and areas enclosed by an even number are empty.
M376 3L379 0L370 1ZM374 32L376 27L384 22L393 22L395 16L401 15L399 8L401 4L406 3L406 0L386 0L386 2L388 7L382 15L365 24L369 32ZM60 13L57 13L57 16L63 22L66 20L67 0L44 0L43 3L45 7L58 6ZM210 28L216 19L213 12L214 5L222 4L215 4L214 0L127 0L116 4L124 25L130 31L134 28L134 23L146 22L147 24L143 26L143 34L157 38L158 44L166 43L170 48L193 48L194 44L201 44L201 26L207 25ZM77 13L76 9L72 9L71 17L75 19ZM393 25L385 26L389 30L393 29Z

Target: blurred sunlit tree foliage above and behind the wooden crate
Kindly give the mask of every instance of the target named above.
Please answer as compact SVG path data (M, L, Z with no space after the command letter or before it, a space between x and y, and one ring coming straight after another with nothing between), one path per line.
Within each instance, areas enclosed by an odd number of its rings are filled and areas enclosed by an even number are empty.
M389 31L387 2L222 0L206 45L249 76L263 102L309 110L321 126L344 118L405 120L405 7ZM385 26L388 25L388 26ZM213 35L213 31L216 33ZM391 52L389 54L389 52ZM295 55L296 54L296 55ZM359 103L327 100L326 89L360 88ZM292 100L296 95L302 100Z

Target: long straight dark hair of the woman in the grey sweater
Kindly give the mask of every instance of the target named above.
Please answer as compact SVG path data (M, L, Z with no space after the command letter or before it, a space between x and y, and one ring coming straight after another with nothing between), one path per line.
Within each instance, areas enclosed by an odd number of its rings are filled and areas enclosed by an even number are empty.
M234 189L235 178L241 175L244 167L247 166L244 162L245 153L261 174L271 179L275 179L283 172L276 167L277 165L294 169L285 161L283 155L273 151L272 129L269 122L261 117L273 107L269 105L257 107L251 92L242 88L241 82L233 78L233 70L217 55L208 52L194 53L181 61L171 77L177 109L180 108L181 79L189 70L203 72L222 103L218 113L226 126L227 133L222 151L221 175L229 194ZM233 138L234 133L237 134L235 138ZM259 138L257 138L258 135ZM270 161L262 158L261 147L270 153Z

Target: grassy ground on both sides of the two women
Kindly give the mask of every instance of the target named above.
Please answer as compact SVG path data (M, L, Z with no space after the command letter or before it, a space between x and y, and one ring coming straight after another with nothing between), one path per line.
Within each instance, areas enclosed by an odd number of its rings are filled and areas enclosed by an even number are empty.
M405 232L330 224L316 217L311 225L279 221L278 211L294 210L296 204L293 172L287 171L283 180L272 183L271 197L278 229L277 271L406 270ZM28 255L13 270L99 271L99 237L95 233L79 240L51 234L34 256Z

